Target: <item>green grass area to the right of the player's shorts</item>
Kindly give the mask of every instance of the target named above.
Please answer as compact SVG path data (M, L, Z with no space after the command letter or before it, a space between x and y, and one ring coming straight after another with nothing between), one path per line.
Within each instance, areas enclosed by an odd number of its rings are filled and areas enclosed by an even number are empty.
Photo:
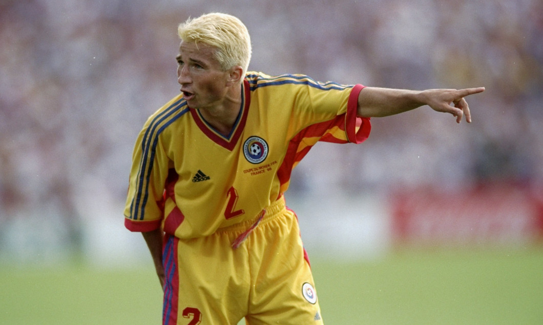
M543 324L543 252L403 252L314 264L330 324Z

